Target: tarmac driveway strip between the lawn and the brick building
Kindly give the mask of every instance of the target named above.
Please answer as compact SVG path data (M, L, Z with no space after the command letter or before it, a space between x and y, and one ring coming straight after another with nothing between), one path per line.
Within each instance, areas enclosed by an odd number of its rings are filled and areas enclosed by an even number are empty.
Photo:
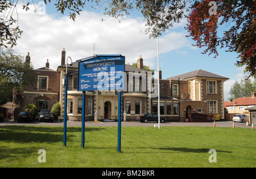
M148 122L148 123L141 123L141 122L122 122L122 126L144 126L144 127L154 127L155 122ZM251 126L246 126L246 123L234 123L235 127L242 127L242 128L251 128ZM5 119L5 122L0 123L1 126L8 126L8 125L32 125L32 126L63 126L63 122L59 123L48 123L48 122L24 122L18 123L14 120ZM81 122L67 122L67 127L81 127ZM111 127L116 126L117 122L85 122L85 127ZM160 123L161 126L201 126L201 127L213 127L213 122L167 122L167 123ZM217 121L216 127L232 127L232 121Z

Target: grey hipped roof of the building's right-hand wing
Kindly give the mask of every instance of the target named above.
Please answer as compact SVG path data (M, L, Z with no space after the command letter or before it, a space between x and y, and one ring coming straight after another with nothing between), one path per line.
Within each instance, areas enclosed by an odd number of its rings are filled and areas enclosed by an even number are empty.
M166 80L185 80L187 78L193 78L193 77L221 78L225 80L229 79L229 78L220 76L218 74L214 74L214 73L207 72L205 70L198 69L192 72L183 73L174 77L167 78Z

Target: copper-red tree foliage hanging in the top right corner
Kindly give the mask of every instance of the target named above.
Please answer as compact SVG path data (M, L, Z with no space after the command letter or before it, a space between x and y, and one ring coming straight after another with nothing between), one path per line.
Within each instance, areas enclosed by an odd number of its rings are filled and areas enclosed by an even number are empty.
M218 47L228 48L227 52L239 53L240 60L237 60L236 65L245 65L245 72L249 73L249 77L256 77L256 1L212 2L204 0L193 3L186 16L188 36L196 41L195 46L206 48L203 53L213 53L214 57L218 55ZM217 33L218 27L224 24L232 24L232 27L220 36Z

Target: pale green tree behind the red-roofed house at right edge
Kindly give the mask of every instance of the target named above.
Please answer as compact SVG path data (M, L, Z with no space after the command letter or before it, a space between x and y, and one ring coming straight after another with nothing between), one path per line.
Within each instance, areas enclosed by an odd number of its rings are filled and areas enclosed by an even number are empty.
M243 79L240 82L236 81L231 86L229 94L231 97L229 99L250 97L251 92L256 91L256 80Z

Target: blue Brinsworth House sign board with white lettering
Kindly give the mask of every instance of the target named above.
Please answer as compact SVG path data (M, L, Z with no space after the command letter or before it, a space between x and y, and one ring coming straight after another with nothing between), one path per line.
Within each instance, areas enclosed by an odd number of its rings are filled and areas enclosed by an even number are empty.
M77 61L78 91L124 89L125 56L94 55Z

